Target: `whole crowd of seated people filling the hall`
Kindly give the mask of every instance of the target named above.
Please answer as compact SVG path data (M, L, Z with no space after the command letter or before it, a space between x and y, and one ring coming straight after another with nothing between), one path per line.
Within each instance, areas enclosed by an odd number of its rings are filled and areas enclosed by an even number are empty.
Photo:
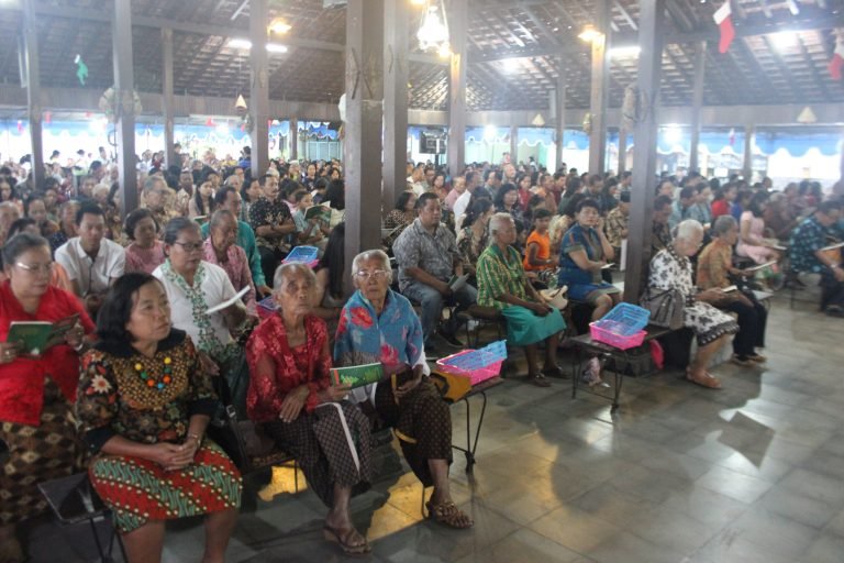
M13 321L73 319L40 354L0 343L0 441L11 456L0 482L14 490L0 498L0 543L11 553L2 555L24 556L15 527L45 509L35 484L87 466L131 561L158 561L165 520L200 514L204 560L222 561L241 476L206 432L216 377L241 415L297 459L327 507L325 538L345 553L370 550L348 506L373 479L373 417L392 428L413 473L433 486L430 517L471 527L451 496L452 422L426 360L466 347L458 313L478 306L500 317L509 345L524 349L528 382L548 387L549 377L564 377L557 347L566 323L538 289L567 286L591 320L621 300L608 266L629 235L640 189L631 176L552 175L506 162L449 177L411 163L407 191L382 210L384 247L347 261L340 163L274 161L253 178L247 150L241 161L209 152L170 168L159 156L142 158L142 207L125 218L111 163L78 181L51 176L41 189L31 174L0 168L0 340ZM825 249L842 239L839 201L809 183L771 195L769 183L690 174L655 186L648 285L682 295L684 325L698 343L690 382L720 387L709 369L733 334L736 364L765 362L766 311L749 290L754 272L735 266L734 255L755 263L785 255L795 272L820 274L821 308L844 316L841 251ZM320 203L326 217L306 219ZM284 264L302 244L318 247L319 262ZM736 280L745 285L725 291ZM389 379L354 393L331 385L332 366L370 362ZM73 412L87 461L75 448ZM131 493L114 486L127 468L138 485ZM173 490L138 493L165 474ZM204 479L219 490L200 494ZM165 501L179 495L196 503Z

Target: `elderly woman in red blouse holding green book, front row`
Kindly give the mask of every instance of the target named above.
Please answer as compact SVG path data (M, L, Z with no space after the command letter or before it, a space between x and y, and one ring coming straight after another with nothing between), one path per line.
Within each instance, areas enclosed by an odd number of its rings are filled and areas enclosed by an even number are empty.
M246 344L252 374L246 412L264 423L279 448L293 454L308 486L329 507L325 539L346 554L368 553L348 503L371 482L369 422L344 400L347 386L331 385L327 330L312 313L316 280L311 268L284 264L274 282L278 310Z

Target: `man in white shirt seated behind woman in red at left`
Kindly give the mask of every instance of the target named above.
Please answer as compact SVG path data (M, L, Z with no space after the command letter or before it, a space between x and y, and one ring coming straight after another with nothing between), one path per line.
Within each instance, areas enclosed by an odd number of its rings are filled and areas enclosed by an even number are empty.
M123 275L126 253L106 239L106 216L96 203L85 203L76 213L79 236L56 250L56 262L67 272L74 292L92 317L97 316L109 287Z

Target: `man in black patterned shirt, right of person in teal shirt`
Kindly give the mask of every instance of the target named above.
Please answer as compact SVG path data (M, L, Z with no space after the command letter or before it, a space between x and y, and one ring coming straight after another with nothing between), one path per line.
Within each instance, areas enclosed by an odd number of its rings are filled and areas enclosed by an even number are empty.
M265 174L259 184L262 195L249 208L249 225L255 230L264 279L269 280L290 250L288 239L296 231L296 221L279 196L278 178Z

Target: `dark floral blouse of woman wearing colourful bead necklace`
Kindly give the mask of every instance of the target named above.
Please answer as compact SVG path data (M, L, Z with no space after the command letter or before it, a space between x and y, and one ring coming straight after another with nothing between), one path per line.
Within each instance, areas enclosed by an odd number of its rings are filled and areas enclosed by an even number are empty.
M93 452L114 435L145 444L179 443L190 417L211 416L215 407L211 377L193 342L178 329L158 343L154 357L127 342L101 342L82 356L76 413Z

